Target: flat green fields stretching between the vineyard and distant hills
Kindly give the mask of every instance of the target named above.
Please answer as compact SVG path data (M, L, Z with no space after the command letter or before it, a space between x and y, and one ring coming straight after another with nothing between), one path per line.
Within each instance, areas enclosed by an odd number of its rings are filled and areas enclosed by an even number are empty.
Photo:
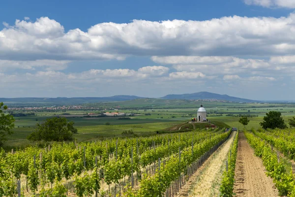
M115 104L114 104L115 103ZM225 123L230 127L243 129L238 123L238 115L255 115L258 117L249 118L250 122L246 129L260 128L259 123L263 121L266 112L280 111L286 123L288 119L295 116L295 105L292 104L246 104L246 103L225 103L225 102L202 102L207 110L207 119ZM91 110L67 110L66 115L69 121L75 123L78 134L75 135L78 141L102 140L108 137L125 137L123 131L132 130L135 135L151 135L156 131L173 127L190 121L196 117L200 101L189 100L163 100L163 99L135 99L130 101L110 102L110 106L131 107L134 109L120 109L119 112L137 113L131 116L130 120L119 120L119 117L85 118L82 116L88 113L100 114L101 111ZM93 105L93 104L92 104ZM98 103L96 103L98 105ZM101 103L105 107L106 103ZM136 109L136 107L149 106L150 109ZM152 106L156 108L153 109ZM166 108L165 108L166 107ZM175 108L171 108L175 107ZM181 108L182 107L182 108ZM105 110L114 112L114 110ZM35 111L35 116L16 117L15 129L12 135L8 135L4 143L5 149L14 147L26 147L34 145L26 137L35 129L37 123L42 123L47 118L62 115L64 111ZM146 114L146 115L145 115ZM148 115L147 115L148 114ZM232 116L228 116L231 114ZM106 125L110 123L110 125ZM288 125L288 124L287 124ZM289 126L289 125L288 125ZM200 128L203 126L200 126Z

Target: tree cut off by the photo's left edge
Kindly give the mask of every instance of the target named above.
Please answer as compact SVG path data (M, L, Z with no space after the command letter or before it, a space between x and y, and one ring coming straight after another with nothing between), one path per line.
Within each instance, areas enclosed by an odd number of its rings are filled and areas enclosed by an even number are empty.
M5 115L2 111L7 109L7 106L0 102L0 146L3 145L3 142L6 141L5 133L11 134L11 129L14 128L14 118L12 115Z

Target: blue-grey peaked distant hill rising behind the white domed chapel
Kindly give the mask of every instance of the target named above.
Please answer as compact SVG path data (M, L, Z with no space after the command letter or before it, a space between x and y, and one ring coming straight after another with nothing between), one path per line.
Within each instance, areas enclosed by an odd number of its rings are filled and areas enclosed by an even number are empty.
M230 97L228 95L219 95L215 93L209 92L198 92L192 94L183 94L183 95L166 95L161 99L217 99L217 100L227 100L232 102L259 102L258 100L250 100L250 99L241 99L237 97Z

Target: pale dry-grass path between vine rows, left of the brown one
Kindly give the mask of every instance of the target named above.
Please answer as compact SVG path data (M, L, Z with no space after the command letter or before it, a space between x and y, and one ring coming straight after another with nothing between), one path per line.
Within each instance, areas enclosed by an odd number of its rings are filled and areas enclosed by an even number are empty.
M235 133L233 132L230 138L197 170L182 187L177 197L216 197L219 195L222 173L225 170L227 154Z

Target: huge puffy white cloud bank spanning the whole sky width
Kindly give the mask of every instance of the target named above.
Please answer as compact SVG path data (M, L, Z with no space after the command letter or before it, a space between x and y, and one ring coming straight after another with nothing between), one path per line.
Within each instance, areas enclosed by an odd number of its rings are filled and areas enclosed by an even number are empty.
M270 56L295 53L295 13L207 21L100 23L87 32L48 17L16 20L0 31L0 59L124 60L128 56ZM217 61L218 57L217 58ZM197 57L199 62L206 58ZM170 59L173 61L172 59ZM183 62L195 61L183 57ZM227 61L220 59L220 61ZM229 60L231 61L231 60Z

